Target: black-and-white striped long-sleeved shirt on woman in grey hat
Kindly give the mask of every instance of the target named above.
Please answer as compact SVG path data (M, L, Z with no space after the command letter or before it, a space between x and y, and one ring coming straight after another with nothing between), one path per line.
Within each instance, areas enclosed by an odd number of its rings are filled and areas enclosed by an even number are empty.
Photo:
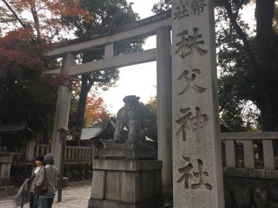
M47 172L47 183L48 191L44 195L40 195L40 198L54 198L55 192L58 184L58 169L56 166L45 166L45 168L40 169L40 176L38 182L35 183L35 187L40 186L44 180L44 171Z

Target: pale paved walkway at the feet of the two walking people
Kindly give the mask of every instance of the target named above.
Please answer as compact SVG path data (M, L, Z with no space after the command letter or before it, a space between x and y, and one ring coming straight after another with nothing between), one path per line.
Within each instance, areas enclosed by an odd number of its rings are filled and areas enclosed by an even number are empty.
M91 187L89 185L83 187L74 187L72 189L63 190L62 202L57 203L57 193L56 198L54 199L53 208L87 208L88 200L90 198ZM6 201L1 202L1 208L13 208L13 202ZM25 205L24 208L28 208L29 205Z

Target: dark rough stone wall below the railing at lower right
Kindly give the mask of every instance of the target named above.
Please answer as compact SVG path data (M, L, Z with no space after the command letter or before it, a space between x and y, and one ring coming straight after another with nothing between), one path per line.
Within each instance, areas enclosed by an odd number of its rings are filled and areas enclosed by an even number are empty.
M278 180L224 176L225 208L278 208Z

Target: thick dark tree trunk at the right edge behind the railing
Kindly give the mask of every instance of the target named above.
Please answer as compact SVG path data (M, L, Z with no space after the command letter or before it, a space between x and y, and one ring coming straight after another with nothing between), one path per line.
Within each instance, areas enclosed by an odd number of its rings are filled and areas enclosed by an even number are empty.
M256 0L256 51L261 64L258 78L262 101L258 102L261 110L263 132L278 131L278 37L274 32L273 17L275 0ZM264 82L263 80L266 80ZM275 156L278 156L278 141L273 141Z

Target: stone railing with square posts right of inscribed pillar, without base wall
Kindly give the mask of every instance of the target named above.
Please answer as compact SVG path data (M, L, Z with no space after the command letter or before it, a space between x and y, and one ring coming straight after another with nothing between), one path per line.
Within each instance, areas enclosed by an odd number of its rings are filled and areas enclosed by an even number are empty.
M222 133L220 137L224 173L236 169L236 177L272 178L273 174L278 176L278 171L274 171L278 157L275 157L273 150L274 140L278 142L278 132ZM257 150L256 153L254 149ZM238 161L241 161L241 165L237 164ZM261 161L261 165L256 165L257 161ZM249 174L245 170L245 175L242 175L243 168L249 170Z

